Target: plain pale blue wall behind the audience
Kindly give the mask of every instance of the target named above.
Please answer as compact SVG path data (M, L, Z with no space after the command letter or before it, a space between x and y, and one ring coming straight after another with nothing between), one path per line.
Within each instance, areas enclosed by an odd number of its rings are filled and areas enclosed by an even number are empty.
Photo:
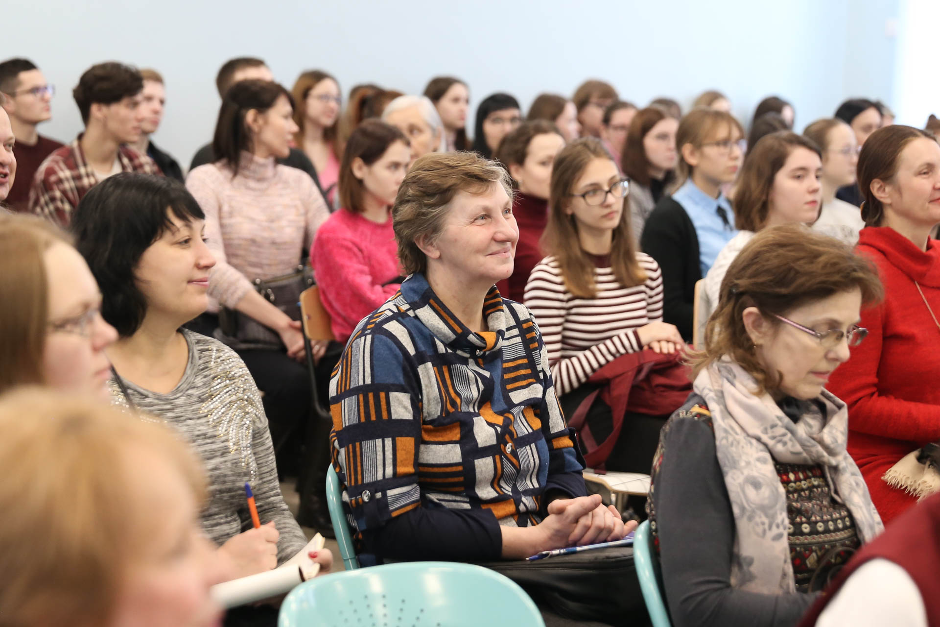
M360 82L419 92L454 74L471 87L471 130L476 102L493 91L526 106L587 77L638 104L669 95L687 106L719 88L745 126L778 94L802 129L848 96L891 102L885 20L899 1L11 0L0 57L32 58L55 84L54 119L40 130L62 140L81 130L71 87L82 71L112 59L157 69L168 102L154 139L184 167L211 138L215 72L237 55L266 59L288 88L309 68L334 73L344 92Z

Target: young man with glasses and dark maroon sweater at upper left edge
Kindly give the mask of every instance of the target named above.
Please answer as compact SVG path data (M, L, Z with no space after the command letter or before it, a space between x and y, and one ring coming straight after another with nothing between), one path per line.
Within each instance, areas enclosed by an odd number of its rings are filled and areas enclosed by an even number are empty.
M61 142L43 137L36 127L52 118L50 102L55 94L53 86L29 59L12 58L0 63L0 92L6 96L3 108L16 137L16 159L20 176L9 182L7 203L16 212L26 211L29 185L39 164L62 146Z

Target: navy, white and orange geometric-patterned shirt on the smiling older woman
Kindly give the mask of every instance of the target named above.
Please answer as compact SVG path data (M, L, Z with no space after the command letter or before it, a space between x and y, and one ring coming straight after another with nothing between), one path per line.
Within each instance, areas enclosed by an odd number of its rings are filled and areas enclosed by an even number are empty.
M413 274L352 333L330 380L334 466L359 531L417 507L540 522L586 494L532 314L496 288L473 333Z

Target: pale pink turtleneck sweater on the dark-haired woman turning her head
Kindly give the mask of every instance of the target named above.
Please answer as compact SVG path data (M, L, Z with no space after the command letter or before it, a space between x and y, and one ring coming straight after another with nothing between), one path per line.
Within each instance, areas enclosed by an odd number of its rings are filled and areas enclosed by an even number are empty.
M330 214L305 172L249 152L242 153L235 179L223 162L200 165L189 173L186 188L206 214L215 256L210 310L217 303L234 307L256 278L292 272Z

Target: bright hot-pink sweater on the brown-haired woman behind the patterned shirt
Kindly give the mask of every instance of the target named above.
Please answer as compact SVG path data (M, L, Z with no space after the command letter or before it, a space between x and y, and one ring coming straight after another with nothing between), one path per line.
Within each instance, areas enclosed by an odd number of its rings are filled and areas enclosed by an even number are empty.
M391 214L380 225L340 209L317 229L310 260L337 341L399 290L389 283L401 275Z

